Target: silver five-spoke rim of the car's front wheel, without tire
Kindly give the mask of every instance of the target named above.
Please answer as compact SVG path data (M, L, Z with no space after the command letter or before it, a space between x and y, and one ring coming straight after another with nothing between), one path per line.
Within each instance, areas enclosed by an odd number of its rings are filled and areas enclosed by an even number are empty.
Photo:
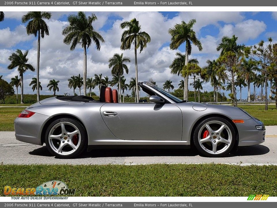
M202 138L203 131L208 131L208 135ZM226 152L231 146L232 133L230 128L221 121L209 121L205 123L199 133L198 142L201 148L209 154L218 155Z

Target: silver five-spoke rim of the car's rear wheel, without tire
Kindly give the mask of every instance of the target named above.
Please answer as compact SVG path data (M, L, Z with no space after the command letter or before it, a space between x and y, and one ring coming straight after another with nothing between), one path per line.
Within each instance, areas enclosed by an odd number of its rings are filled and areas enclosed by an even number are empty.
M74 136L75 138L78 137L77 143L73 142ZM48 135L48 142L55 153L59 155L70 155L80 146L81 133L74 124L65 121L59 122L51 128Z

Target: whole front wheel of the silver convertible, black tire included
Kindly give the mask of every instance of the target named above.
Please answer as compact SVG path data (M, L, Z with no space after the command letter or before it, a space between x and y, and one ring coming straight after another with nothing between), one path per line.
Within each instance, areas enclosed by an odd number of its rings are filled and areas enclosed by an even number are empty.
M232 150L235 138L235 130L228 120L211 117L197 125L193 139L201 154L208 157L220 157Z

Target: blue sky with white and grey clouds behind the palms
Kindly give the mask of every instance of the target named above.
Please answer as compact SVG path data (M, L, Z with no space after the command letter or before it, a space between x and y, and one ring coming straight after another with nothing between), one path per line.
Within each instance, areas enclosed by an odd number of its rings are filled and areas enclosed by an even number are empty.
M0 23L0 75L7 81L18 75L16 69L7 70L10 63L9 55L16 49L29 50L29 62L36 66L36 44L34 36L26 34L25 26L21 17L26 12L5 12L5 21ZM40 56L40 81L42 84L41 94L52 94L46 88L49 79L60 80L59 93L69 92L67 79L72 75L82 75L83 72L83 50L77 47L70 51L70 46L63 44L61 31L68 25L67 15L73 12L52 12L52 18L47 21L50 27L50 35L41 40ZM168 29L181 21L196 19L194 30L202 42L203 51L196 47L192 48L190 58L197 58L200 66L205 66L207 59L216 59L218 51L216 46L220 43L222 36L235 34L238 43L246 45L257 44L260 40L272 37L277 40L277 12L94 12L98 20L93 24L95 29L101 33L105 43L101 44L100 51L96 51L92 45L87 51L87 77L94 74L103 74L110 79L111 70L108 68L108 59L114 53L123 53L129 56L132 62L129 66L129 74L125 77L127 82L135 76L134 50L120 51L120 38L122 30L119 25L122 21L130 21L137 18L143 31L151 36L151 42L147 44L142 53L138 53L139 81L147 81L152 77L157 85L170 79L175 89L181 77L170 73L169 65L173 61L176 52L184 53L184 45L178 50L170 50L170 36ZM86 12L90 15L91 12ZM275 41L274 41L275 42ZM34 94L29 87L35 72L27 71L24 75L24 93ZM191 81L190 81L191 82ZM252 86L251 86L252 87ZM212 91L209 83L203 84L203 89ZM190 90L193 90L192 88ZM253 89L251 89L251 92ZM94 89L98 94L98 89ZM127 92L130 94L130 92ZM229 92L228 92L229 93ZM142 94L143 95L143 94ZM247 98L247 89L243 90L243 99Z

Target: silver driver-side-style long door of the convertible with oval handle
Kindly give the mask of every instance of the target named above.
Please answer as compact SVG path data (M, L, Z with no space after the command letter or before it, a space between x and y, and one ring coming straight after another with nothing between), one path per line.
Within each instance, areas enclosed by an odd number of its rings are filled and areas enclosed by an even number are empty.
M182 139L182 113L173 104L106 103L100 113L121 140Z

